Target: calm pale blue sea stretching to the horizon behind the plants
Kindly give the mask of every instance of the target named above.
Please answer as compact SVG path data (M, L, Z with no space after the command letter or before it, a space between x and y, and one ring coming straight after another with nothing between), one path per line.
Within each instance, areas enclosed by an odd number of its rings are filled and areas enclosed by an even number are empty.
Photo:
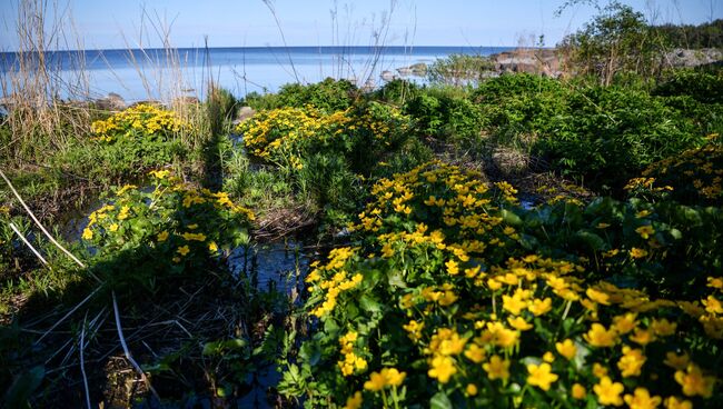
M346 78L363 86L383 84L383 71L453 53L488 56L506 47L245 47L165 50L88 50L47 53L61 98L91 98L115 92L127 101L186 94L202 98L209 79L236 96L273 92L288 82ZM32 60L32 59L31 59ZM32 63L30 67L32 68ZM18 54L0 53L4 92L11 92ZM83 68L80 70L79 68ZM79 76L83 73L85 77ZM181 78L181 81L178 80Z

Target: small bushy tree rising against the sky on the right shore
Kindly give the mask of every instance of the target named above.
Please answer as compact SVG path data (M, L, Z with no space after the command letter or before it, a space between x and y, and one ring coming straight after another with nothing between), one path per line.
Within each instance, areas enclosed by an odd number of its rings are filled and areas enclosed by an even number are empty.
M613 1L562 43L581 74L608 86L618 72L653 74L658 64L653 32L641 12Z

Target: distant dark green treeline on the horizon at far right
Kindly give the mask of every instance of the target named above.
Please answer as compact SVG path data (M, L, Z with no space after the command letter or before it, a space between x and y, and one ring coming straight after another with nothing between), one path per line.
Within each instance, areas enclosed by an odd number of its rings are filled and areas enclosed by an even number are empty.
M723 48L723 19L700 26L654 26L653 30L660 33L670 46L675 48Z

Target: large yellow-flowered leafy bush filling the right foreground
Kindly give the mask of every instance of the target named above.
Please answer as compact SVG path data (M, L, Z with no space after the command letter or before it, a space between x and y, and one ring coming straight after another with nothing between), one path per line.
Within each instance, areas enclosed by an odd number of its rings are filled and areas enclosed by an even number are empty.
M600 281L602 255L537 253L514 190L454 167L419 167L373 193L356 247L306 278L313 331L283 393L347 408L721 405L722 277L682 301ZM591 222L590 208L556 206L557 231Z

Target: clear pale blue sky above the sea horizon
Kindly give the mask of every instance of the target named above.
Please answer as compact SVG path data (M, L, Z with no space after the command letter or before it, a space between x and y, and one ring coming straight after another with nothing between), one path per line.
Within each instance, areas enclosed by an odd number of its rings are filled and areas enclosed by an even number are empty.
M14 7L0 1L0 50L17 48ZM532 44L541 33L554 46L594 14L591 7L554 10L564 0L397 0L385 44L518 46ZM85 48L161 46L149 22L165 21L176 47L281 46L274 16L263 0L59 0L69 3L65 22L73 22ZM601 0L605 3L605 0ZM723 17L723 0L622 1L656 22L700 23ZM49 3L52 3L50 1ZM289 46L370 44L389 0L274 0ZM336 4L336 6L335 6ZM336 19L331 10L336 9ZM142 23L142 10L146 23ZM70 18L70 16L72 18ZM172 24L169 24L172 21ZM336 21L337 30L333 30ZM338 34L337 34L338 32ZM73 41L73 44L76 42ZM72 48L72 47L71 47Z

